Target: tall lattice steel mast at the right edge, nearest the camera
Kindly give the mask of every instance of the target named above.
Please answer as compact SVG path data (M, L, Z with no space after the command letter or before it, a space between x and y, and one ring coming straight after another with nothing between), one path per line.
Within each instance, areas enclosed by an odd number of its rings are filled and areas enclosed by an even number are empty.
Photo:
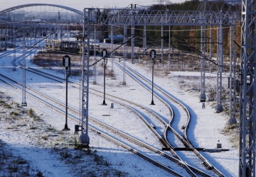
M242 0L239 176L255 176L256 2Z

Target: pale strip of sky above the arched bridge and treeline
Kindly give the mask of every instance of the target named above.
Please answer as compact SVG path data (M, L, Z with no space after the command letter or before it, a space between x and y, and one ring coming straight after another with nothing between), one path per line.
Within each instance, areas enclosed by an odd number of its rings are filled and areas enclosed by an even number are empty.
M62 6L69 6L75 9L82 11L83 8L123 8L127 7L130 4L138 4L142 6L149 6L151 4L159 4L162 1L163 4L166 4L166 0L130 0L130 1L120 1L120 0L97 0L97 1L88 1L88 0L0 0L0 11L10 8L12 6L18 6L21 4L58 4ZM185 0L170 0L172 3L181 3Z

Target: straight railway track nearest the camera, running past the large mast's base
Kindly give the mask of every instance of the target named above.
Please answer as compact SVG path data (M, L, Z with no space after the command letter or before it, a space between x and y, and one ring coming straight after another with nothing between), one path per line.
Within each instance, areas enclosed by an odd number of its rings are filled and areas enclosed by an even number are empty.
M1 81L4 81L6 84L9 84L10 86L12 86L16 89L22 90L21 89L21 84L19 84L18 82L4 76L3 74L0 74L0 76L1 76ZM9 80L9 81L6 81L6 80ZM10 81L13 82L13 83L11 84ZM15 86L14 84L18 84L19 86ZM34 93L31 93L31 92L34 92ZM65 105L63 103L60 103L59 101L56 101L55 99L50 98L49 96L46 96L45 94L40 93L40 92L38 92L34 89L31 89L31 88L28 88L28 87L27 87L27 94L29 96L32 96L33 98L36 98L38 101L41 101L44 104L47 104L51 108L54 108L55 110L58 110L58 112L65 114L65 111L64 111ZM38 96L36 96L36 95L38 95ZM44 99L47 98L48 101L46 101L42 98L44 98ZM56 106L56 104L58 104L62 108L58 108L58 106ZM79 121L79 118L78 118L79 111L75 110L73 108L69 108L69 110L73 111L75 114L77 114L77 115L69 114L68 115L69 118L72 118L73 120ZM156 154L159 154L159 156L163 156L166 159L174 161L175 164L178 164L181 167L186 165L186 164L183 164L182 161L178 161L176 158L174 158L174 157L172 157L168 154L165 154L164 152L161 152L161 151L159 151L158 149L156 149L154 147L151 147L149 144L146 144L146 143L140 141L139 139L136 139L134 137L126 135L125 133L114 129L113 127L110 127L109 125L106 125L103 122L100 122L100 121L98 121L94 118L91 118L91 117L90 117L90 122L96 122L97 125L101 125L102 127L107 128L108 130L110 130L110 132L114 132L114 134L118 133L120 136L124 137L124 139L128 139L129 142L134 142L135 144L139 144L139 146L144 147L146 149L149 149L150 152L155 152ZM146 159L146 161L149 161L151 164L154 164L155 166L159 166L159 168L164 169L165 171L168 171L169 173L173 174L174 176L182 176L180 173L171 169L170 164L166 165L164 163L161 163L159 160L152 159L150 156L147 156L144 151L138 150L138 149L130 146L129 144L127 144L123 141L120 141L117 138L114 138L112 135L109 135L108 132L103 132L102 130L100 130L97 126L90 125L90 130L97 132L98 135L101 135L102 137L105 137L106 139L109 139L110 141L112 141L116 144L119 144L119 146L124 147L125 149L128 149L130 152L132 152L134 154L137 154L138 156L141 156L143 159Z

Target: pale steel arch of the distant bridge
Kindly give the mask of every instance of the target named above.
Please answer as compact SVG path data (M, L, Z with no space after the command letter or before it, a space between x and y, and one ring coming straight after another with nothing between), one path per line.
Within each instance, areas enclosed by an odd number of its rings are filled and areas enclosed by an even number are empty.
M72 11L74 13L78 13L80 16L82 16L82 11L79 11L75 8L70 8L68 6L61 6L61 5L57 5L57 4L23 4L23 5L19 5L19 6L13 6L11 8L6 8L3 11L0 11L0 15L4 14L4 13L8 13L10 11L15 11L19 8L26 8L26 7L30 7L30 6L53 6L53 7L66 9L66 10Z

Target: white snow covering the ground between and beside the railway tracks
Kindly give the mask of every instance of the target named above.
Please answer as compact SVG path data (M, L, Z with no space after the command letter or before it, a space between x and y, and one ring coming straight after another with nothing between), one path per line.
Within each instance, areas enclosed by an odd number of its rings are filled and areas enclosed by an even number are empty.
M12 71L11 59L12 56L0 59L0 73L7 74L22 82L22 71L19 68L17 68L16 72ZM30 62L27 62L27 64L31 67L36 67ZM151 78L150 69L146 70L139 64L131 64L129 62L127 62L127 65L144 74L144 76ZM100 68L100 66L98 67ZM53 68L47 70L55 75L63 76L63 74L54 72ZM169 76L154 76L154 83L173 94L179 101L186 104L187 108L191 111L193 120L188 137L191 138L193 145L213 149L216 147L218 141L220 141L223 149L229 149L228 152L203 152L203 155L207 157L211 164L215 165L224 173L225 176L238 176L238 149L235 149L233 144L230 143L230 137L223 133L225 125L228 122L228 117L222 113L215 113L212 102L206 102L206 108L202 109L202 103L198 101L200 93L192 89L192 85L198 85L200 80L191 79L192 76L200 76L200 73L171 72ZM206 80L207 84L215 83L216 79L213 80L213 77L216 76L215 74L206 74L206 76L208 76ZM29 73L26 79L28 86L42 92L47 92L50 96L65 103L64 85L53 84L47 79L36 78ZM71 77L70 79L75 80L78 78ZM106 79L106 93L119 97L122 96L122 98L132 100L146 107L151 106L150 108L154 110L161 111L165 109L164 105L157 100L155 100L156 105L150 105L151 94L129 76L126 77L125 86L122 85L122 81L122 72L117 67L114 67L114 79L112 76ZM91 81L90 88L103 91L103 77L97 77L97 84L92 84ZM0 91L4 93L5 97L9 96L11 102L21 103L21 91L13 89L1 81ZM104 106L102 105L102 98L97 96L90 95L89 99L90 116L102 120L109 125L119 126L120 128L129 125L130 134L138 134L139 137L146 137L150 141L149 135L145 134L147 130L144 123L138 118L134 118L129 110L125 110L121 105L114 105L114 108L111 109L111 102L107 100L108 105ZM70 106L79 109L80 92L74 88L69 88L68 101ZM91 154L93 155L86 155L90 153L73 150L74 139L77 138L77 135L73 135L73 132L75 124L78 123L68 120L68 126L71 130L69 132L63 132L61 130L65 124L64 115L39 103L30 96L26 96L26 102L28 103L27 109L34 110L36 115L40 116L41 121L33 121L28 115L24 115L21 120L5 120L4 116L9 116L11 110L6 112L6 110L1 108L1 114L3 116L1 115L0 120L0 139L6 143L7 149L11 149L14 154L18 154L18 156L22 156L23 159L29 161L34 169L43 173L43 176L77 176L81 174L87 174L88 176L171 176L166 171L159 169L153 164L149 164L131 152L127 152L126 149L112 144L112 142L100 137L95 132L89 131L90 147L92 147L93 151ZM26 123L22 122L25 120ZM12 124L16 124L14 128L10 128ZM38 128L31 129L31 126ZM145 130L143 130L143 127ZM47 136L48 139L42 139L43 136ZM64 158L63 154L65 153L72 154L73 159ZM75 156L77 158L74 158ZM102 157L102 161L105 161L105 164L97 164L95 156ZM6 169L0 169L0 176L7 175Z

